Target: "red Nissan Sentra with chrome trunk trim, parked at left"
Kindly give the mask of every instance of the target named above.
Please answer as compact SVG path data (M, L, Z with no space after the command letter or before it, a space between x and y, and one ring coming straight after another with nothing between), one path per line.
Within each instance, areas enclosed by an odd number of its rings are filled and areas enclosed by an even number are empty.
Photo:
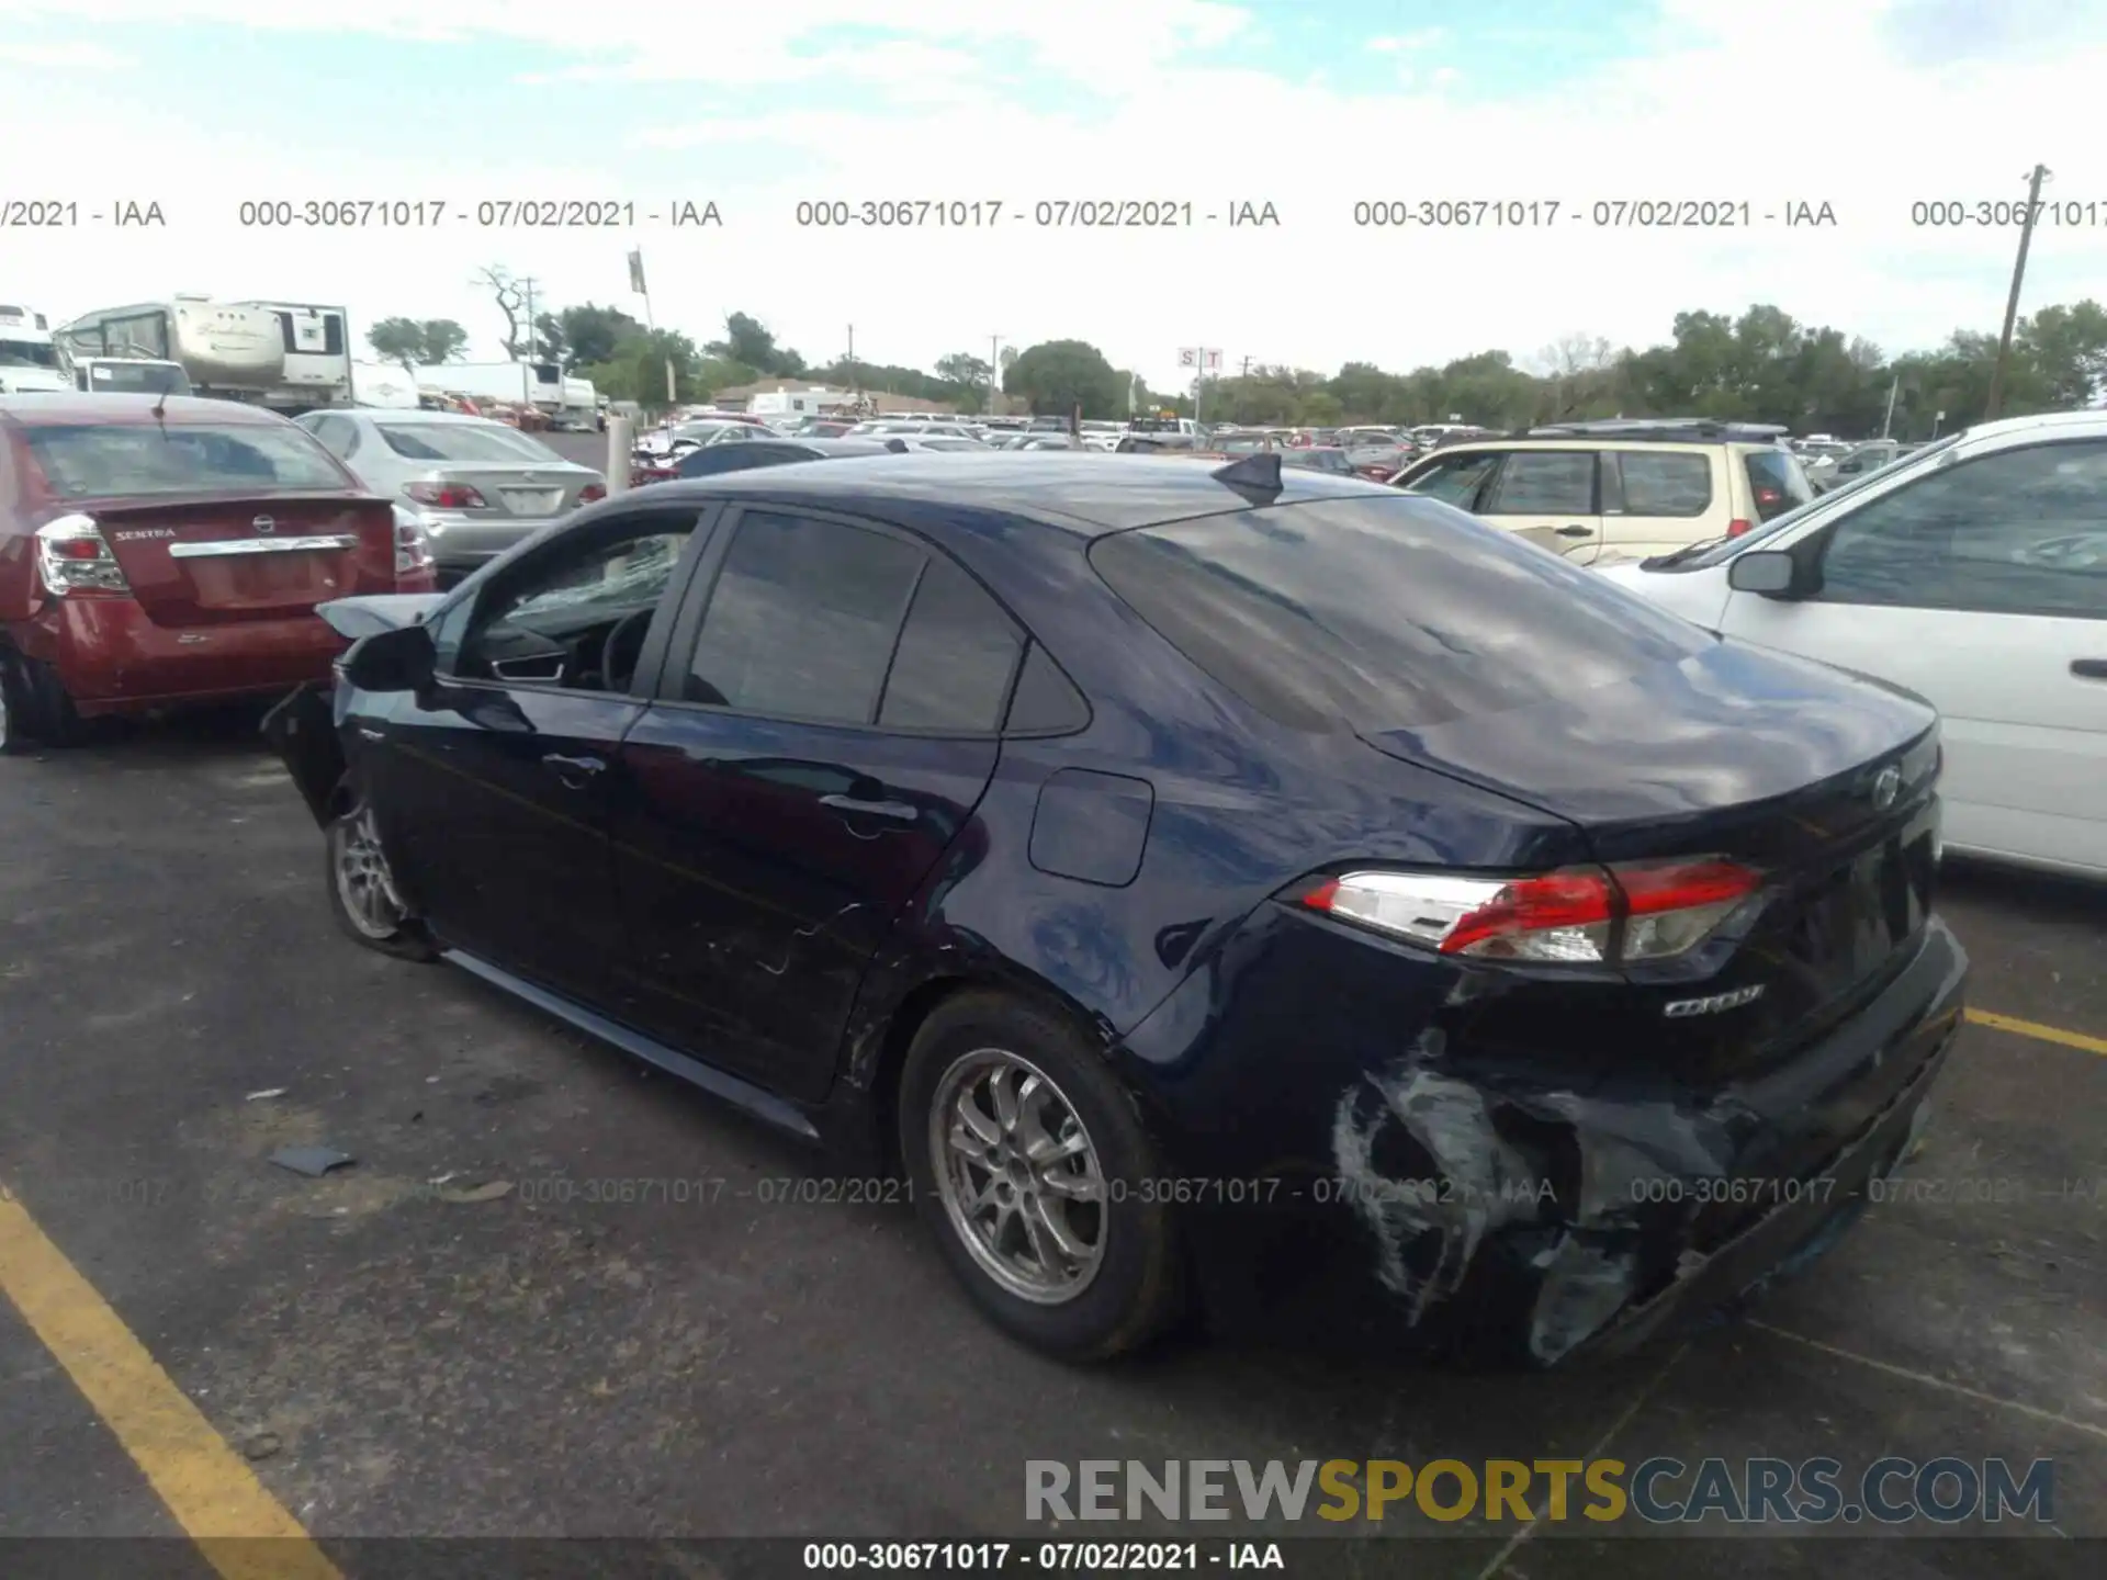
M0 750L324 678L318 603L432 586L424 531L282 417L0 396Z

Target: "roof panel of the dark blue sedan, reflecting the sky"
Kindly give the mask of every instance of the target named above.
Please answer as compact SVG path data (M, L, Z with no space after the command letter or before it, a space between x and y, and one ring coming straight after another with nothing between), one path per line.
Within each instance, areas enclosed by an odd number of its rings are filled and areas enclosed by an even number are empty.
M1083 537L1155 527L1193 516L1249 510L1254 499L1193 466L1190 455L1098 455L1087 451L904 451L851 457L832 466L792 461L708 478L653 482L651 501L801 499L834 510L942 503L1037 520ZM1380 482L1361 482L1308 468L1283 468L1281 491L1260 503L1304 503L1336 497L1401 497ZM1058 499L1058 506L1049 501Z

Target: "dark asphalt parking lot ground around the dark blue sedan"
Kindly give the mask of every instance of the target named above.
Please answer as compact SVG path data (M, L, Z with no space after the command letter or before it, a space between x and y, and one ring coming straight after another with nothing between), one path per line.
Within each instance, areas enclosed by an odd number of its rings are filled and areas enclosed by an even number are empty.
M348 944L253 727L0 763L0 1182L346 1574L373 1536L1016 1538L1028 1458L2048 1456L2054 1534L1997 1553L1391 1532L1414 1576L2099 1559L2061 1540L2107 1536L2096 891L1949 874L1972 1005L2025 1026L1964 1030L1917 1192L1749 1323L1555 1376L1205 1342L1075 1371L986 1327L906 1209L801 1201L824 1163ZM287 1144L356 1163L306 1180L265 1163ZM0 1378L0 1536L175 1534L4 1300Z

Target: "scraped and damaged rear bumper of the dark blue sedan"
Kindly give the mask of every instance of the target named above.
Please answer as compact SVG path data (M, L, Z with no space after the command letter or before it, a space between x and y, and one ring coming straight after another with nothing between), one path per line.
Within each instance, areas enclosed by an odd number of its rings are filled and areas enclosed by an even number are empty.
M1898 1167L1962 1024L1966 975L1934 919L1839 1026L1711 1085L1673 1070L1572 1081L1557 1060L1466 1045L1424 1001L1395 1005L1405 1051L1382 1058L1304 1034L1283 1060L1262 1030L1241 1030L1247 1018L1218 1018L1207 1062L1239 1085L1262 1064L1283 1074L1247 1098L1262 1127L1230 1131L1224 1112L1165 1135L1180 1173L1268 1186L1188 1211L1209 1317L1502 1367L1614 1357L1715 1323L1835 1243ZM1277 990L1289 992L1281 1022L1325 1024L1321 1003L1266 984ZM1380 1009L1357 1005L1355 1024ZM1146 1041L1129 1047L1148 1058ZM1199 1064L1167 1114L1195 1106ZM1283 1129L1304 1138L1287 1157L1243 1148Z

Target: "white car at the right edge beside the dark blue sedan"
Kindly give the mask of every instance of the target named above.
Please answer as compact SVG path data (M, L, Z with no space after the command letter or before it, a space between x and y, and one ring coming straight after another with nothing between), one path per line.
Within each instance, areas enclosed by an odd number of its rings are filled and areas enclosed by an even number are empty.
M1601 575L1924 695L1947 849L2107 878L2107 411L1968 428L1745 537Z

